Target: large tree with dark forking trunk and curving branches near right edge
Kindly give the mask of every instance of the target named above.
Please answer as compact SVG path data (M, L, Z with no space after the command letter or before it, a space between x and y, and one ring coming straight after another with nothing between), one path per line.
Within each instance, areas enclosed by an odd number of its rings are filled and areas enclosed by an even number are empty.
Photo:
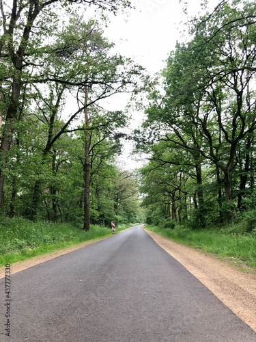
M242 9L236 5L223 3L210 19L201 21L190 45L196 55L200 53L196 62L203 70L204 80L199 86L203 88L202 102L208 105L203 118L198 118L205 142L210 146L204 156L222 170L227 200L233 200L231 174L238 144L255 131L256 124L251 90L255 71L249 70L255 63L255 29L250 15L255 4L246 3ZM222 29L216 30L216 25ZM212 116L218 127L216 138L210 128ZM220 143L229 148L226 162L218 155L216 145Z

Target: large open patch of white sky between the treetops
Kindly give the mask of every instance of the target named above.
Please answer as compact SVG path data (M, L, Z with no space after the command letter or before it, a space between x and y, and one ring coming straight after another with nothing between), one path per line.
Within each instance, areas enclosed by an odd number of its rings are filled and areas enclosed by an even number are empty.
M136 58L150 73L156 73L175 47L178 35L175 21L180 18L181 6L178 0L138 0L137 3L136 10L130 10L127 18L112 16L105 34L115 42L119 53Z

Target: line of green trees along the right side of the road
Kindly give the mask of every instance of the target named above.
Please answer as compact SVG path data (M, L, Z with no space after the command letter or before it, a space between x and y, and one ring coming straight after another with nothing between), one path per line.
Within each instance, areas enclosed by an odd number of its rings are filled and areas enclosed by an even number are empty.
M148 95L137 148L147 222L255 229L256 4L221 1L193 18Z

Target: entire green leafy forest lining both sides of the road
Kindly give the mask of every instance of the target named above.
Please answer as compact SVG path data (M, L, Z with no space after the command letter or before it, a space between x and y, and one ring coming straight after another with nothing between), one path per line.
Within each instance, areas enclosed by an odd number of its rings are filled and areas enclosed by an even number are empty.
M104 36L103 14L132 5L0 1L1 217L255 232L255 2L192 18L155 77ZM132 135L132 107L104 109L119 93L145 111ZM136 172L116 163L126 140L146 155Z

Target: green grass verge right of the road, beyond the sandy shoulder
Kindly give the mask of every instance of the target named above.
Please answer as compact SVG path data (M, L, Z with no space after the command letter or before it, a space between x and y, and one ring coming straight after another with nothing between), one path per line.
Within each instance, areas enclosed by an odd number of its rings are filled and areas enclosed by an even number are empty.
M256 236L255 234L229 233L227 229L197 229L184 227L174 229L146 226L159 235L173 239L187 246L214 253L221 259L229 258L238 265L256 268Z

